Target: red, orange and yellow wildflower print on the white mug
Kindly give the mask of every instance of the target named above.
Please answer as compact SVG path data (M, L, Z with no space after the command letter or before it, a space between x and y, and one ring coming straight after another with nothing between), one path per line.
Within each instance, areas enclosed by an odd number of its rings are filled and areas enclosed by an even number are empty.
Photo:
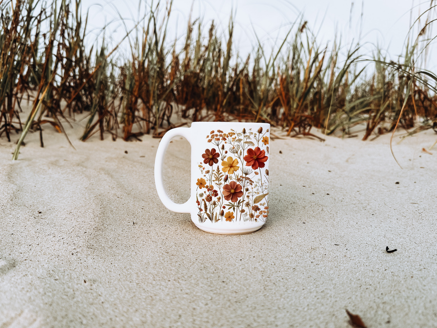
M269 137L260 127L236 132L211 131L199 162L196 204L200 223L210 220L265 222L269 214L266 166Z

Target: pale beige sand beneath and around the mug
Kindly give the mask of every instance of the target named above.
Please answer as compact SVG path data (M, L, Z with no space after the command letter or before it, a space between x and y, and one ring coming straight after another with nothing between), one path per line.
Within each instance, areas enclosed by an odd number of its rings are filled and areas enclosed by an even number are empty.
M0 140L1 328L350 327L345 309L369 328L436 325L432 130L395 139L403 169L389 136L272 140L269 220L239 236L162 205L159 139L83 143L67 129L73 150L44 133L15 162ZM189 151L177 138L167 152L177 202Z

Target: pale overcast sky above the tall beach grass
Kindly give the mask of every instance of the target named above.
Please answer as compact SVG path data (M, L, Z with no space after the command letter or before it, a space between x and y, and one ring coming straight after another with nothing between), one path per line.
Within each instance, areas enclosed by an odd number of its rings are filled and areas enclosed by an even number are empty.
M144 3L150 5L151 1L143 2L143 8ZM374 49L373 45L378 44L388 50L390 59L396 60L409 30L410 14L414 21L429 5L430 1L419 0L174 0L168 40L174 40L175 35L183 40L191 8L194 18L201 17L205 34L214 20L219 31L226 35L233 11L236 22L234 42L244 57L256 44L254 31L261 42L273 44L277 37L279 40L284 37L299 15L303 15L312 31L319 32L319 45L332 42L336 32L342 36L343 44L357 40L361 26L361 43L367 43L365 49L369 49L369 53ZM98 30L105 22L114 21L108 27L107 38L117 40L124 33L118 15L129 25L129 21L137 19L138 8L138 0L97 0L89 7L89 28ZM431 63L428 68L433 66Z

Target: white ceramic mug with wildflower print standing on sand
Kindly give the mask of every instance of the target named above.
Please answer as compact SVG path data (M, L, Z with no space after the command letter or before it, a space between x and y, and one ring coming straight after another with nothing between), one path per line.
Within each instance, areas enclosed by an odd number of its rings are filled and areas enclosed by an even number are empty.
M201 230L214 234L249 234L269 213L270 124L193 122L162 138L155 159L156 191L173 212L190 213ZM191 196L184 204L171 201L162 179L164 154L174 137L191 144Z

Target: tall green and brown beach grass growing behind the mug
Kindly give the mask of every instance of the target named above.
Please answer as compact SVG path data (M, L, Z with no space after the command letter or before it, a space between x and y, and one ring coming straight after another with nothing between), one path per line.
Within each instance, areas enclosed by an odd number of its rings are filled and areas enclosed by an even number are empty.
M0 1L0 137L12 141L12 132L21 133L14 159L29 130L39 132L44 147L47 124L69 142L64 125L83 113L83 141L95 133L101 140L160 137L182 124L175 116L268 122L291 137L315 136L313 128L349 137L364 125L363 140L373 140L397 127L408 135L436 128L437 78L416 67L433 39L433 2L396 62L377 48L369 56L359 42L343 46L335 38L320 45L303 19L274 48L257 39L241 58L232 15L225 35L214 22L190 17L178 48L167 35L171 1L145 4L146 14L116 46L104 37L87 44L82 6L80 0ZM119 47L122 42L128 47ZM26 100L33 105L21 122Z

